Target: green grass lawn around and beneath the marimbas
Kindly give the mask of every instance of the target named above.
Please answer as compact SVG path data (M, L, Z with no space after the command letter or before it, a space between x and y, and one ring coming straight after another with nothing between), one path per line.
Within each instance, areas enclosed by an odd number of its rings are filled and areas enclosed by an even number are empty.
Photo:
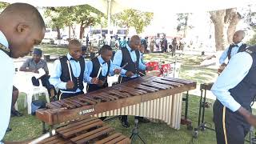
M42 50L45 54L66 54L67 49L65 47L58 48L53 46L42 46ZM170 54L146 54L146 61L159 61L159 62L174 62L175 57L171 57ZM177 57L177 62L182 62L180 71L180 78L191 79L198 82L198 85L202 82L213 82L217 78L216 70L199 67L199 63L202 61L200 55L181 55ZM22 106L24 102L25 94L20 94L18 98L19 110L25 114L24 116L17 118L10 118L10 126L12 131L7 132L5 136L6 141L21 141L27 139L38 138L42 135L41 122L34 116L27 115L26 108ZM208 100L212 102L211 100ZM189 101L189 118L193 122L193 126L198 125L198 102L199 98L195 95L190 95ZM183 105L185 106L185 104ZM182 110L185 110L182 108ZM182 113L184 114L184 112ZM212 107L206 109L206 122L209 122L208 126L214 127L212 122ZM130 124L134 123L134 117L129 117ZM130 136L133 126L129 129L122 127L119 120L108 122L110 126L113 126L116 131ZM139 125L139 132L146 140L147 143L174 143L174 144L186 144L192 143L192 131L186 130L186 126L182 126L180 130L174 130L166 125L166 123L150 122L142 123ZM214 131L206 130L205 132L199 131L198 139L194 139L194 143L211 144L216 143ZM141 143L141 142L135 142Z

